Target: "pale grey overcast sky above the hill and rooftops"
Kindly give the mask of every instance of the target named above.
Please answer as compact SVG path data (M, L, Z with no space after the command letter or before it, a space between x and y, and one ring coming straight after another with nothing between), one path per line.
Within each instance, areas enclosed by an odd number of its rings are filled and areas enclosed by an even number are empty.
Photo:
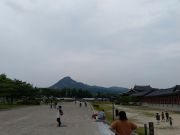
M0 74L49 87L180 84L180 0L1 0Z

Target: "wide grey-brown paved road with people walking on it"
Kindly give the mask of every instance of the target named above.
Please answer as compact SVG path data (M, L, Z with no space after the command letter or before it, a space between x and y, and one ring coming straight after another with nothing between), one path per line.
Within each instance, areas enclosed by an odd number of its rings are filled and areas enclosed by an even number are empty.
M103 135L91 119L91 108L62 103L62 127L57 127L56 110L47 105L0 112L0 135ZM104 128L104 127L103 127Z

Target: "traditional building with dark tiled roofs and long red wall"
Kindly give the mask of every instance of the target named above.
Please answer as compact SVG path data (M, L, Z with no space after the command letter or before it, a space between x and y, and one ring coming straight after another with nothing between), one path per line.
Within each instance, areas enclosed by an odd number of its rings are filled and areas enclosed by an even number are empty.
M142 105L180 111L180 85L168 89L135 85L126 94L136 97Z

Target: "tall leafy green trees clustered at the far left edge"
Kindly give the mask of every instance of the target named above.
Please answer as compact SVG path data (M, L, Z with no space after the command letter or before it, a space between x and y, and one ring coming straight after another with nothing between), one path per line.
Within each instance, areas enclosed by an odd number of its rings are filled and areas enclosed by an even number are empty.
M37 88L30 83L18 79L10 79L5 74L0 75L1 103L14 103L19 99L33 100L38 95Z

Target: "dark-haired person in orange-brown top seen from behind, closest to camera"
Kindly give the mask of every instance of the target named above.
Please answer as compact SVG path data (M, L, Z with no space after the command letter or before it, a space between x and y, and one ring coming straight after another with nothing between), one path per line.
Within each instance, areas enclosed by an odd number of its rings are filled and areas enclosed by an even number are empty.
M128 120L124 111L119 112L119 120L113 121L110 126L110 130L116 135L130 135L136 128L137 125Z

